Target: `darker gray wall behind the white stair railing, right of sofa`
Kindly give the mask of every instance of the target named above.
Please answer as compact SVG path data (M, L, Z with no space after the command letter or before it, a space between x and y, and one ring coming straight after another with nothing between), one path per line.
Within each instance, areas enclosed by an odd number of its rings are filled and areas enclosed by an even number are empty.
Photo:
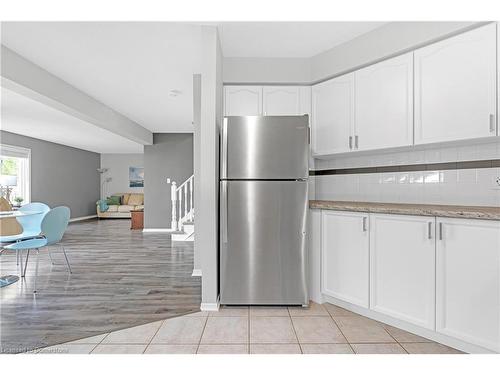
M153 134L153 144L144 146L145 228L170 228L172 202L166 179L180 185L192 174L193 134Z

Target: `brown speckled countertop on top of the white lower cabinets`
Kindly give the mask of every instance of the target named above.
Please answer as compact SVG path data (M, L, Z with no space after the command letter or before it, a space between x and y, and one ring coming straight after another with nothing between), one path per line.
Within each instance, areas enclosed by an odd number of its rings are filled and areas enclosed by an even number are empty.
M500 207L310 200L310 208L380 214L500 220Z

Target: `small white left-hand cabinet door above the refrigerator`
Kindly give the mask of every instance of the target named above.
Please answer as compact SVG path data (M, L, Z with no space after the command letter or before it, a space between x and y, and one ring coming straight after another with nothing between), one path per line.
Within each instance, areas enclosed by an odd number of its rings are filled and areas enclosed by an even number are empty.
M226 86L224 93L226 116L262 115L262 87Z

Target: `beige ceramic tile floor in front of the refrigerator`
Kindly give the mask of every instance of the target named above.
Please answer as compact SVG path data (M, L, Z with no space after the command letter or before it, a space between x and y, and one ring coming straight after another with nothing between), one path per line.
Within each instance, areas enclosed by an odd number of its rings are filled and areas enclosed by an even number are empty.
M70 354L453 354L340 307L224 307L46 347Z

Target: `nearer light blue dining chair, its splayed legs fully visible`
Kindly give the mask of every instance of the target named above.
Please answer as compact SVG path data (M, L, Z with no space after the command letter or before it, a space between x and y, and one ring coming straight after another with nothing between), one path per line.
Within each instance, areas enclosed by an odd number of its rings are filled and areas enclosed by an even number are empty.
M24 266L24 273L22 274L22 277L26 276L26 269L28 268L28 259L30 255L30 250L36 250L35 281L33 284L33 293L37 292L36 280L38 278L38 255L40 253L40 248L59 244L59 246L63 251L64 258L66 259L68 271L69 273L72 273L68 256L66 254L66 250L64 249L64 246L60 244L60 241L64 236L64 232L68 227L69 218L70 218L70 209L68 207L60 206L53 208L45 214L45 217L42 220L41 224L42 237L15 242L11 245L4 246L4 248L2 249L2 250L15 250L15 251L27 250L26 264Z

